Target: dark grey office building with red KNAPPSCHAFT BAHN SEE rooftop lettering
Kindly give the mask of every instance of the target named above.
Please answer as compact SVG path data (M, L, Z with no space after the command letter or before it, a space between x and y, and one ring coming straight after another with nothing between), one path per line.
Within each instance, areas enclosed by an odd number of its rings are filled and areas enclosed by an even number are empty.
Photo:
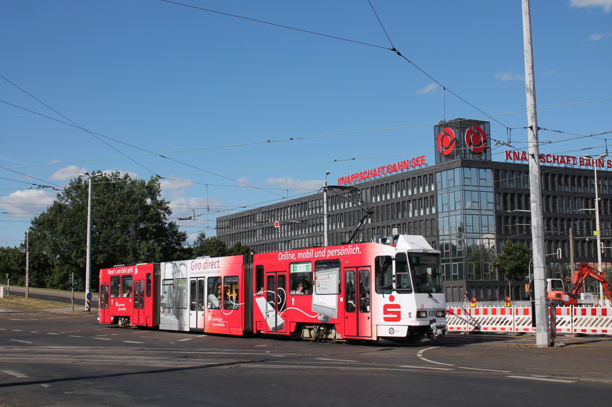
M531 248L529 155L504 152L491 160L488 122L456 119L434 128L435 164L427 156L387 163L338 178L352 186L372 211L355 241L371 241L393 230L423 235L442 252L447 301L504 298L509 286L491 262L506 241ZM570 263L597 262L594 231L601 233L603 262L612 257L612 160L540 155L543 225L548 277L567 280ZM595 222L594 165L600 224ZM217 218L217 237L240 241L254 252L323 246L324 194L316 193ZM329 245L345 243L364 210L332 185L327 192ZM570 238L573 245L570 244ZM561 259L558 259L561 249ZM512 298L526 297L525 281L513 282Z

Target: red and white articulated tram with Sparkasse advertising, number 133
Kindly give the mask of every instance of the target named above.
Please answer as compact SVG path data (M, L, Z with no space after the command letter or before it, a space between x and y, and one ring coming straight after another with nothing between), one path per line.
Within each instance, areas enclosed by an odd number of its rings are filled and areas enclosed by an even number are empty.
M215 334L446 334L440 252L421 236L100 270L100 323Z

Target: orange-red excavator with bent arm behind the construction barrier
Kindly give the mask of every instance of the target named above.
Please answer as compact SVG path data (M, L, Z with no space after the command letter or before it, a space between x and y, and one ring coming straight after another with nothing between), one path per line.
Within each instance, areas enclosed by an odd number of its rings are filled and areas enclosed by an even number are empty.
M548 298L553 301L553 304L558 306L578 305L578 294L582 290L586 277L592 277L602 284L603 292L608 296L608 303L612 306L612 293L610 292L610 281L608 277L606 277L603 272L599 273L597 269L592 268L587 263L580 263L577 270L574 271L570 292L565 292L561 279L549 279Z

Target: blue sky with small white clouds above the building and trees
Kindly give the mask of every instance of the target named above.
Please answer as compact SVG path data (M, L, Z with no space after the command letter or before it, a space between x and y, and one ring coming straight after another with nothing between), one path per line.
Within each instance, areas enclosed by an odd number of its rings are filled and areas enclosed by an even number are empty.
M433 164L440 120L526 149L520 0L370 1L1 2L0 246L56 196L36 185L84 171L161 175L193 240L326 171ZM612 0L532 1L531 18L538 124L564 132L540 152L605 152L611 134L584 136L612 130Z

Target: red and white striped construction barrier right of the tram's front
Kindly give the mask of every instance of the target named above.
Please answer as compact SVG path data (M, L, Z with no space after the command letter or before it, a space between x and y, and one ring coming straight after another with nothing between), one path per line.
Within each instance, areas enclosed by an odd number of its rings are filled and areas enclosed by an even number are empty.
M449 332L535 332L530 307L449 307ZM612 308L556 307L558 334L612 335Z

